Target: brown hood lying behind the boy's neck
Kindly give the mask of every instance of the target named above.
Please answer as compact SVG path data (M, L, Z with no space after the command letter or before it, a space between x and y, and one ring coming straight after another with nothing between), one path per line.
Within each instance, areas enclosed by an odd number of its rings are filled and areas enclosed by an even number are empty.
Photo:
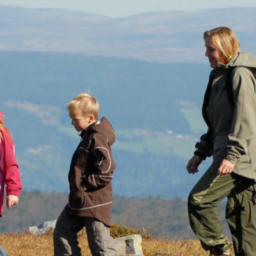
M105 117L93 125L90 125L87 129L81 132L80 136L83 138L87 132L99 132L108 139L109 145L112 145L116 141L116 133L109 120Z

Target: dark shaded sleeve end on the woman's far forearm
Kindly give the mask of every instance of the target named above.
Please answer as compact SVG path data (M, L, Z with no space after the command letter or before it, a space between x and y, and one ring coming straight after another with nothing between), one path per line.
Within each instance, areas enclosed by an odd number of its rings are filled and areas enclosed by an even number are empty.
M214 134L210 129L208 129L207 133L203 134L200 137L200 141L196 143L196 151L194 154L200 156L204 160L206 157L212 156L213 141Z

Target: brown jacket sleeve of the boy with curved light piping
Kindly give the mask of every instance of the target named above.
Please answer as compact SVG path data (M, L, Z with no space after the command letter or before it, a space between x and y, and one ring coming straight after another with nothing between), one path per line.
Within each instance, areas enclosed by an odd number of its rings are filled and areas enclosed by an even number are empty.
M108 139L102 134L97 134L92 143L95 171L91 175L86 175L84 180L84 185L89 190L108 185L113 179L113 171L116 167Z

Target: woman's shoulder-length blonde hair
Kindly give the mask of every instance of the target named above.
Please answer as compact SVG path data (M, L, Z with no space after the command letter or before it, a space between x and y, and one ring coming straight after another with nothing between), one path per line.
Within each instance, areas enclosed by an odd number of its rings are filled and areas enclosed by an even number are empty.
M239 52L240 43L234 31L227 27L214 28L204 33L204 41L212 38L212 41L225 57L225 63L228 63L234 55Z

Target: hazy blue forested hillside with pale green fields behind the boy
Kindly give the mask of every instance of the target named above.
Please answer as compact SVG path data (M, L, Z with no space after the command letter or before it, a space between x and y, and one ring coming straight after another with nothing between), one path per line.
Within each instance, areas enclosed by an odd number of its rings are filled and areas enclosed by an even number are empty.
M116 129L114 194L188 196L209 67L42 52L0 52L0 65L0 109L27 190L68 191L79 136L66 105L90 91Z

